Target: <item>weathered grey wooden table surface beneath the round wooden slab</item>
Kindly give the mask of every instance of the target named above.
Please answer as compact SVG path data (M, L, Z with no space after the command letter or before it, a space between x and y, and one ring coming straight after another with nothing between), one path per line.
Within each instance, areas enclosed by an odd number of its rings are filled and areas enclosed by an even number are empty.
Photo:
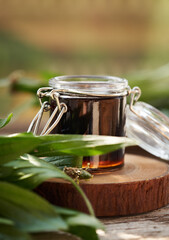
M100 240L168 240L169 205L150 213L130 217L100 218L106 232ZM77 240L67 234L37 234L36 240ZM90 240L90 239L89 239Z

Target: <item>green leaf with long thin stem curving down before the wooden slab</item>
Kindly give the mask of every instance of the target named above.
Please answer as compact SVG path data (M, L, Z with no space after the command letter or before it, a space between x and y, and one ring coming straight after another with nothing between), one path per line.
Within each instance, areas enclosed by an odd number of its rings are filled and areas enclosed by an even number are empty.
M18 160L5 164L5 166L2 167L4 167L4 175L1 173L1 180L6 180L26 188L35 188L40 183L53 177L62 178L71 182L84 198L90 214L94 215L92 206L82 189L75 183L72 178L70 178L54 165L27 154ZM6 167L7 170L5 170ZM11 170L10 172L10 168L12 168L13 171ZM9 174L7 175L8 172Z

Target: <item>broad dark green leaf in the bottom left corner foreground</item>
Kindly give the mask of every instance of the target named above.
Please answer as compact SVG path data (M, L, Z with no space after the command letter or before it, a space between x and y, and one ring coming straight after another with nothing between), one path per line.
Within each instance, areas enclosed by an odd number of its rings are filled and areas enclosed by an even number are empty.
M67 230L68 225L46 200L33 192L0 182L0 215L27 232Z

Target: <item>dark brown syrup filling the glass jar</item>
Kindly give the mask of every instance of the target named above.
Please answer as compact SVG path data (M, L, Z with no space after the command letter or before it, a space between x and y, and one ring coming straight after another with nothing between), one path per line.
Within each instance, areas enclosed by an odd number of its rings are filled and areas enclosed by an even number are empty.
M63 95L60 102L67 105L68 111L52 133L125 136L125 96L103 98ZM52 101L51 106L54 109L56 103ZM94 172L109 171L123 164L124 149L83 158L83 168L89 167Z

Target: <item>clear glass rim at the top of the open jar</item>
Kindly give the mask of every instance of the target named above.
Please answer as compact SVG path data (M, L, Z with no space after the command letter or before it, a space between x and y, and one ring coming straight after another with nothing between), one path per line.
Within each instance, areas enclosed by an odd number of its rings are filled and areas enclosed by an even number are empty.
M129 91L126 79L113 76L58 76L49 80L49 86L67 95L124 96Z

